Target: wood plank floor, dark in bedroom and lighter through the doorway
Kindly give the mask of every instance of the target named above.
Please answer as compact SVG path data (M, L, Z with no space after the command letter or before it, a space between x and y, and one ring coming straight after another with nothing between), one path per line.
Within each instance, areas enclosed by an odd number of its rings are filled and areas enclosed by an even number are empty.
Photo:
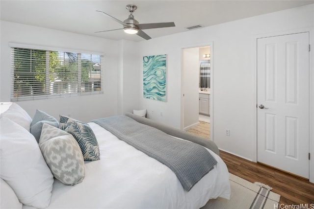
M209 138L209 124L204 124L204 122L187 131ZM307 208L314 209L314 184L308 180L227 152L220 151L220 157L226 163L230 173L252 183L261 182L273 187L272 191L281 195L280 204L294 205L295 208L300 207L300 204L308 204Z

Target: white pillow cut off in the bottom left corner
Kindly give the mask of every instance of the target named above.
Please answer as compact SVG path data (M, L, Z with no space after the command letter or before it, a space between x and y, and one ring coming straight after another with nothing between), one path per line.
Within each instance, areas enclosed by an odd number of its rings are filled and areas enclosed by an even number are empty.
M13 189L3 179L0 182L0 189L1 209L22 209L22 203L20 203Z

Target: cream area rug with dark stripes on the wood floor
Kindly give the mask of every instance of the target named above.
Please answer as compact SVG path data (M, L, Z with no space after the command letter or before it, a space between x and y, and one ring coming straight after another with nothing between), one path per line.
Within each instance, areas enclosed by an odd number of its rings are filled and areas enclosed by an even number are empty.
M280 195L262 183L253 184L230 174L230 186L230 200L212 199L202 209L274 209L279 204Z

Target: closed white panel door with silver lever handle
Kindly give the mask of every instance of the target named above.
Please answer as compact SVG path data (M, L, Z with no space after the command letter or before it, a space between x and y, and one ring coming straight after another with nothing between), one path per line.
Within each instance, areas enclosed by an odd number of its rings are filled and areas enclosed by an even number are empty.
M309 178L309 33L257 42L258 162Z

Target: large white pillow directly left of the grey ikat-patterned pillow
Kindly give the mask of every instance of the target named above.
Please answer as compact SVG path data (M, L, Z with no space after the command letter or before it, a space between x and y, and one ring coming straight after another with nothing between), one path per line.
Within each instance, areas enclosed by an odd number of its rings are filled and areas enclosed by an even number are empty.
M34 136L12 120L0 118L0 176L19 201L46 208L52 195L53 176Z

